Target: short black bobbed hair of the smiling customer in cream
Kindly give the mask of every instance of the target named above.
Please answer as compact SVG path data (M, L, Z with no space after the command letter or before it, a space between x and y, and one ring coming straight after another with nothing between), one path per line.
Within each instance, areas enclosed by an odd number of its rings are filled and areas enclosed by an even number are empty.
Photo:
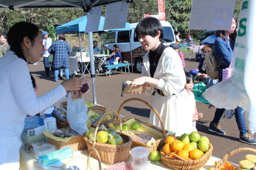
M135 28L137 35L150 35L151 37L157 36L157 31L160 31L159 40L163 40L163 26L159 20L154 17L146 17L141 20Z

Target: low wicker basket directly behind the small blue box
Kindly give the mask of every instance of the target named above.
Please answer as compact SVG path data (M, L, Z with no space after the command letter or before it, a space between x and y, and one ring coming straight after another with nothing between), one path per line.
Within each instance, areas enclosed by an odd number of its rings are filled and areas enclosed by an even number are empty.
M72 138L68 142L56 141L55 139L47 137L47 142L49 144L55 145L57 150L65 147L71 147L73 152L75 152L76 150L82 150L87 148L83 135Z

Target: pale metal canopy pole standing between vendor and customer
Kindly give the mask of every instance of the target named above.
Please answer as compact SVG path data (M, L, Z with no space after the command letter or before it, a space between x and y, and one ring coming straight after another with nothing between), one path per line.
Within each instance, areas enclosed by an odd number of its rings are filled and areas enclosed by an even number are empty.
M88 16L89 13L87 13ZM94 54L93 54L93 32L88 32L88 43L89 43L89 51L90 51L90 72L92 78L92 89L93 89L93 103L97 104L96 99L96 81L95 81L95 67L94 67Z

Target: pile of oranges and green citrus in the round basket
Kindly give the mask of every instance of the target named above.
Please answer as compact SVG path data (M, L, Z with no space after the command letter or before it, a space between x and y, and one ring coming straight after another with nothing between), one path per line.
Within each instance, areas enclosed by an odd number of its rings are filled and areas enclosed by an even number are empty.
M209 150L209 139L206 136L200 136L198 132L183 134L181 136L168 136L163 146L163 152L175 153L183 159L198 159L204 152ZM177 159L175 155L168 155Z

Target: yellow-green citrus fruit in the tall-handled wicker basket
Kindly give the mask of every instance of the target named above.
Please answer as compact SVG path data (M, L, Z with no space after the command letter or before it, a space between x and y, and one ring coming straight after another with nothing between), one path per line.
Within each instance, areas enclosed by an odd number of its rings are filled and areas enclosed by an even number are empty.
M94 129L87 130L85 136L93 141L94 139ZM100 130L96 134L96 142L104 144L123 144L122 137L116 133L115 130L109 128L106 130Z

